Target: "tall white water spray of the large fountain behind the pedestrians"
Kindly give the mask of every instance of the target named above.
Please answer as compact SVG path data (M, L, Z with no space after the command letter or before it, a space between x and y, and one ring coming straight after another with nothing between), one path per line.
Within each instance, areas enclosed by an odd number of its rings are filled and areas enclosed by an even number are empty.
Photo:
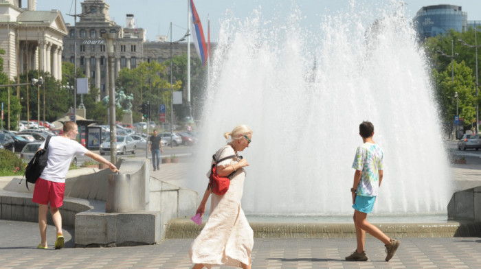
M368 2L368 1L366 1ZM242 206L249 215L351 215L358 126L374 124L384 178L377 215L445 214L452 194L429 67L399 3L353 1L302 30L302 15L223 21L190 188L237 124L254 130Z

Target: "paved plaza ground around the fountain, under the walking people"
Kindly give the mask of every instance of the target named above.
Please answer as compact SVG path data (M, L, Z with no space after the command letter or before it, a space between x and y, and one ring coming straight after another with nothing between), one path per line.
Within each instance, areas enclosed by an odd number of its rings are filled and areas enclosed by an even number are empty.
M162 165L151 176L179 183L187 175L187 165ZM454 165L452 172L459 183L481 185L479 160ZM153 246L74 248L74 231L65 227L64 235L65 248L54 250L55 228L49 226L49 249L40 250L36 249L38 224L0 220L0 268L192 268L188 250L193 239L166 239ZM366 239L368 261L345 261L355 246L354 238L255 238L252 268L481 268L481 237L401 238L390 262L384 261L381 242L372 237Z

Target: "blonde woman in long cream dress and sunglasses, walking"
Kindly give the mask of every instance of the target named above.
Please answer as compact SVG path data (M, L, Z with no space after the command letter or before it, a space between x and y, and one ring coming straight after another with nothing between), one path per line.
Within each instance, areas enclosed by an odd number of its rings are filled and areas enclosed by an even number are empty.
M217 159L231 155L236 157L218 163L217 174L219 176L234 174L224 195L212 193L209 219L190 247L190 259L194 264L192 269L211 268L216 265L251 268L254 232L240 207L245 178L243 167L249 163L238 158L238 152L249 147L252 130L240 125L232 132L225 132L224 137L229 142L216 152ZM211 190L206 189L197 213L203 215L210 194Z

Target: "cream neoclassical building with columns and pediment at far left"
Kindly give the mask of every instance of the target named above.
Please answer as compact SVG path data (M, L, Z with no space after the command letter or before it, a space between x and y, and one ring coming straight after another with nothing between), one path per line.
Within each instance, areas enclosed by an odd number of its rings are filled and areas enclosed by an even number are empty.
M0 48L5 50L1 57L10 79L40 69L61 80L66 35L67 26L58 10L37 11L35 0L0 0Z

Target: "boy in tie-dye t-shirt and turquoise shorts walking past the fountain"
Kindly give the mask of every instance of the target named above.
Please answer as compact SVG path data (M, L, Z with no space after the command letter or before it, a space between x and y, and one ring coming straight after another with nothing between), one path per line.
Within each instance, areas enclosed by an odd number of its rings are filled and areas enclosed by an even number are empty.
M369 121L363 121L359 125L359 134L363 144L356 150L353 168L353 187L350 189L353 195L354 224L356 227L357 249L353 254L346 257L348 261L367 261L368 255L364 251L366 232L381 240L387 253L385 261L389 261L399 247L399 240L391 239L376 226L367 220L368 213L372 212L374 201L383 180L383 150L372 140L374 125Z

